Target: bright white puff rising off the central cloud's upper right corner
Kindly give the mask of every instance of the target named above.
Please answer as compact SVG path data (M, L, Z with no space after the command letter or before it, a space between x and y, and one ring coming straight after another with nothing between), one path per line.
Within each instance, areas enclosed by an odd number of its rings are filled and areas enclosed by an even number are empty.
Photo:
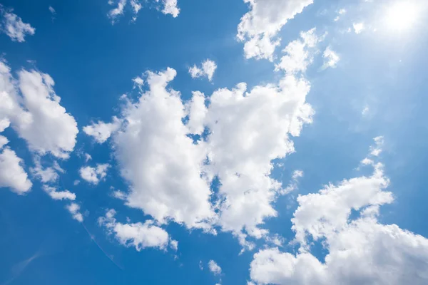
M316 35L315 28L301 32L300 38L288 43L282 51L280 63L275 65L277 71L284 70L287 73L302 73L313 61L315 46L321 39Z

